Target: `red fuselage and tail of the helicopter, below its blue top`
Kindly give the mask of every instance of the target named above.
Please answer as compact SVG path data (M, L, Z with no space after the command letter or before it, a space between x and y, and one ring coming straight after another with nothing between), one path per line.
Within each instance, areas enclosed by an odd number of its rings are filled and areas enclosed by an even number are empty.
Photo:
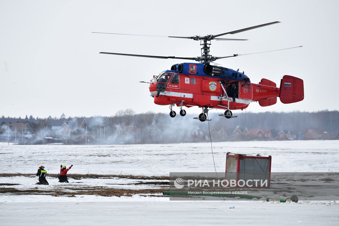
M227 71L233 74L237 72L232 69ZM239 79L237 76L238 79L232 80L232 76L212 77L204 76L203 73L199 75L179 73L175 70L164 71L151 81L149 91L157 105L174 104L188 108L198 106L223 110L243 110L254 101L258 101L262 107L270 106L277 102L277 97L280 97L283 103L303 99L303 81L299 78L285 75L278 88L276 83L268 79L263 78L259 84L255 84L243 73L238 74L245 78Z

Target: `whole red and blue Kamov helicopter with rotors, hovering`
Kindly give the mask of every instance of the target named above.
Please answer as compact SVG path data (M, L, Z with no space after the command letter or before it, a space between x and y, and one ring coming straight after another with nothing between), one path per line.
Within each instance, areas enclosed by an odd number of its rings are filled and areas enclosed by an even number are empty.
M251 102L258 101L261 107L271 106L277 103L277 97L282 103L294 103L304 99L303 80L294 76L284 75L280 80L280 86L268 79L261 79L258 84L251 83L250 78L230 68L213 65L214 61L222 58L237 57L250 54L233 54L231 56L215 57L210 54L211 40L220 41L245 41L248 39L230 39L219 38L227 34L236 34L259 27L280 23L279 21L265 23L257 26L247 27L244 29L226 32L218 35L206 36L158 36L158 35L136 35L136 36L155 36L168 38L185 38L200 41L201 56L199 57L175 57L175 56L152 56L152 55L136 55L124 53L108 53L100 52L100 54L112 54L123 56L149 57L160 59L183 59L194 60L196 63L178 63L171 67L171 70L165 70L159 73L158 76L153 76L150 80L149 92L154 98L154 103L157 105L169 105L169 115L176 116L173 107L176 105L180 109L180 115L185 116L186 111L183 107L198 106L202 108L202 113L194 119L200 121L212 120L208 119L208 110L222 109L224 114L219 116L225 118L235 118L231 110L243 110L248 107ZM134 34L119 34L119 33L103 33L115 35L134 35ZM296 46L293 49L302 46ZM279 50L286 50L279 49ZM265 51L259 53L273 52L279 50ZM141 81L144 82L144 81Z

